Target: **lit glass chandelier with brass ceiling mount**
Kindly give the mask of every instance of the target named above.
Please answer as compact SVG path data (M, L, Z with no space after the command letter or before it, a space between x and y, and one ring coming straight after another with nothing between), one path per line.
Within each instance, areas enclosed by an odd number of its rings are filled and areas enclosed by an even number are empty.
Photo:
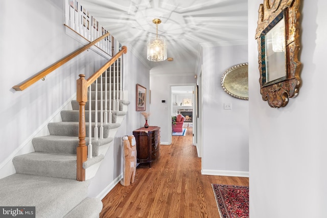
M149 61L164 61L167 59L167 45L164 39L158 38L158 24L161 20L156 18L152 22L156 25L157 34L156 38L148 41L147 58Z

